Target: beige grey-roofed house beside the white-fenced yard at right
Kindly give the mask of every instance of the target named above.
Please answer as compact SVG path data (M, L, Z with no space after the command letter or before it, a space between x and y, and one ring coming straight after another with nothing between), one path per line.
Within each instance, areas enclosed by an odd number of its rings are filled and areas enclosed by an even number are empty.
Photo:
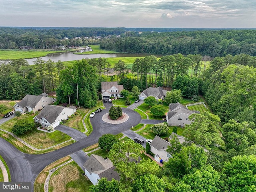
M166 120L170 126L184 127L186 124L191 124L188 119L193 113L200 113L199 111L190 111L184 105L178 103L171 103L169 105L169 112L166 114Z

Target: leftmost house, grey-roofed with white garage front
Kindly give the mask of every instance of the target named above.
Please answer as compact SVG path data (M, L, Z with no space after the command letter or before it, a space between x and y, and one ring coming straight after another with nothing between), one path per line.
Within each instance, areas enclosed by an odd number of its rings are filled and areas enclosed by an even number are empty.
M48 94L42 93L40 95L26 95L20 102L14 105L14 110L21 113L38 111L48 104L55 102L55 98L48 97Z

